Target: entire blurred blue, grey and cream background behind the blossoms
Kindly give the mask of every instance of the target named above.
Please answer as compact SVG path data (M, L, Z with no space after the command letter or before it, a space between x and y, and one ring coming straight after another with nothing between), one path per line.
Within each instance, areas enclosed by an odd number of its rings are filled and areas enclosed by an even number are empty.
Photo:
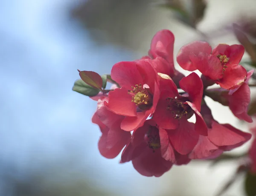
M146 55L160 29L174 33L175 56L193 40L239 43L232 23L255 35L255 9L255 0L2 0L0 196L214 196L237 161L141 176L120 156L99 154L96 101L72 86L76 69L110 73L114 63ZM206 101L217 121L248 131L227 107ZM243 196L242 187L240 179L224 196Z

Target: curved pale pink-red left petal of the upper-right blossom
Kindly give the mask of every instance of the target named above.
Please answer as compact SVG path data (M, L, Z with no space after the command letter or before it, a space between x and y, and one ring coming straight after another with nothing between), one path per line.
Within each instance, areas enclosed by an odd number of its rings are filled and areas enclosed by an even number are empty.
M212 52L212 47L209 45L209 43L204 41L194 41L182 46L177 54L177 63L179 63L179 65L185 70L194 71L198 68L196 64L191 62L189 56L191 53L198 55L200 52L209 55Z

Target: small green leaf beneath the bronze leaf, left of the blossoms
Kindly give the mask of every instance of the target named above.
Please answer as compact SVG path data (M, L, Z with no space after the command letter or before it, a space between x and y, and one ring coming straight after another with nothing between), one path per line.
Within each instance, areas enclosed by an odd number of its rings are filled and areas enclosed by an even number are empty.
M74 84L72 90L79 92L82 95L86 95L86 96L90 96L90 97L97 95L100 91L99 89L95 89L92 86L86 84L81 79L75 81L75 84Z

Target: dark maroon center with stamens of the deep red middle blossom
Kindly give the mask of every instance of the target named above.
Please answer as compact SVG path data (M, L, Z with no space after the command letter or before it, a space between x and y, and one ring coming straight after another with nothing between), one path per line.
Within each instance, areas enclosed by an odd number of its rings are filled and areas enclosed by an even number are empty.
M167 110L172 112L172 117L180 120L183 116L187 116L190 113L190 107L188 104L185 104L183 101L180 101L175 98L166 98L167 101Z

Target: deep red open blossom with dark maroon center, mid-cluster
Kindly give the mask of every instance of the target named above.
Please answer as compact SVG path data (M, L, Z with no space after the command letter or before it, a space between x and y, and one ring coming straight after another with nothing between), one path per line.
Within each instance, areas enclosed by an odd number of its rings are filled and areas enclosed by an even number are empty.
M161 128L169 130L169 138L178 153L186 155L198 142L199 134L207 135L207 125L200 114L203 84L196 73L180 80L186 94L179 95L177 86L166 75L160 77L160 99L153 119ZM187 121L193 114L195 126Z

